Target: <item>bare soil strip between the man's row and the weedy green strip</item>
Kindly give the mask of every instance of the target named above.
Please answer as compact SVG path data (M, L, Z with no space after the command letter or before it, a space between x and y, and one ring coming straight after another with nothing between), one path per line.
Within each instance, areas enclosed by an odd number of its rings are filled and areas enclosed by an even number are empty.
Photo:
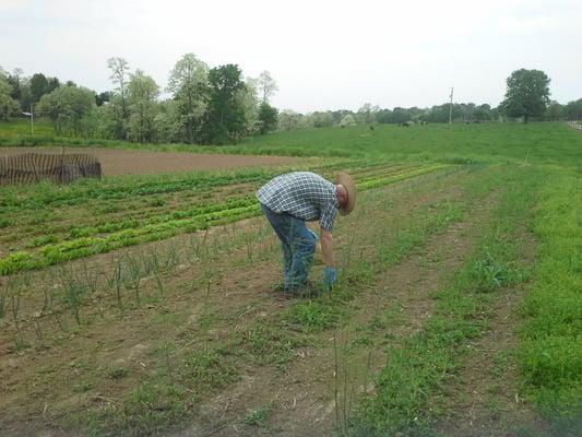
M459 196L449 194L450 199ZM435 199L423 198L425 202ZM363 290L353 303L349 327L319 334L317 346L297 351L287 373L265 367L247 369L238 383L230 385L228 390L202 405L195 424L176 436L341 435L343 415L353 412L358 395L373 392L371 381L387 359L381 343L387 344L387 332L377 333L376 340L380 343L354 351L351 350L351 343L357 340L354 331L357 327L369 326L372 317L394 310L394 323L389 328L390 343L397 344L420 329L431 314L430 294L442 286L470 253L492 203L495 199L490 198L470 221L432 236L417 252L382 272L373 286ZM365 335L370 339L375 333L368 331ZM340 354L337 361L336 353ZM274 405L266 426L241 425L246 414L263 405Z

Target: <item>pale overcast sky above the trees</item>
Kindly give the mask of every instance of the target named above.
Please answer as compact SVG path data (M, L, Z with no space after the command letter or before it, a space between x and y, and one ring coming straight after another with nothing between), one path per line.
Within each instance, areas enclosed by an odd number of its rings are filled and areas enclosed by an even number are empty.
M0 67L95 90L121 57L165 88L188 52L210 68L269 71L271 104L298 113L497 106L514 70L543 70L550 98L582 97L582 1L0 0Z

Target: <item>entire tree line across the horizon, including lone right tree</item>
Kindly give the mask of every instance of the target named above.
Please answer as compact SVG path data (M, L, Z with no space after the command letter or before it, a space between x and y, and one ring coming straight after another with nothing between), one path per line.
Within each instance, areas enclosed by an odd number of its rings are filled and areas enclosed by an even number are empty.
M236 64L210 68L187 54L169 73L165 91L170 97L161 99L154 79L140 69L132 72L123 58L108 59L107 68L114 88L100 94L43 73L26 79L22 70L10 74L0 68L0 119L34 107L52 122L57 134L192 144L236 143L273 130L334 126L582 119L582 98L567 105L550 101L550 79L539 70L514 71L498 107L444 103L388 109L365 104L356 111L299 114L270 105L277 85L268 71L244 79Z

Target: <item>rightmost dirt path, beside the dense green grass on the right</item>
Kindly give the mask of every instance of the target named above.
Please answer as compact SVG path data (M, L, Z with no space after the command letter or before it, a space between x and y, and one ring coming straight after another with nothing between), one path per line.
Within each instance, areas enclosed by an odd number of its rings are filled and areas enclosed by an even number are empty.
M525 262L534 262L535 244L522 229ZM491 303L489 328L470 344L465 364L451 380L447 391L449 415L437 429L450 437L527 435L549 436L545 421L519 395L518 369L513 356L520 326L518 309L528 284L502 288Z

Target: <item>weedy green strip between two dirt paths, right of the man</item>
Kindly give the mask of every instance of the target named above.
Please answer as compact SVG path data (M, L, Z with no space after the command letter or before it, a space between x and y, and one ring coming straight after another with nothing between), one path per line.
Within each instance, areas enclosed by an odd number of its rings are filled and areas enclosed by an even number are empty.
M431 435L440 413L431 401L442 393L449 374L462 365L463 345L480 335L485 309L497 293L528 277L520 260L516 223L530 214L534 172L509 169L507 191L495 210L494 222L478 240L474 255L440 290L433 314L421 331L388 347L388 362L373 395L364 398L353 418L354 435Z

